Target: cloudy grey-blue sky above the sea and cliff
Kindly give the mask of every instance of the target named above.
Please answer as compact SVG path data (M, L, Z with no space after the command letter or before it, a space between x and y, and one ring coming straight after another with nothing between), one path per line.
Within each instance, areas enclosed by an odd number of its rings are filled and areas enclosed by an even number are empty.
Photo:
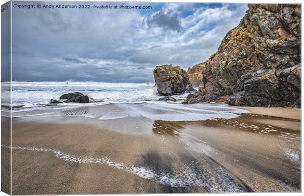
M79 4L45 2L51 3ZM247 10L247 4L111 4L152 9L13 8L13 80L153 82L156 65L187 69L208 59Z

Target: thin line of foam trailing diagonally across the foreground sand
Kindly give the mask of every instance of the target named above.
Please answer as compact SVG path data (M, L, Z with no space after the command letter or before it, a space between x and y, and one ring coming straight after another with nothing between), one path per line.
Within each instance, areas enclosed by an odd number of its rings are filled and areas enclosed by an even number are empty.
M203 166L201 167L201 170L194 172L194 167L191 167L191 165L181 165L180 168L177 169L177 172L172 174L168 172L153 171L152 169L145 167L127 165L113 161L108 157L75 156L61 150L40 147L8 147L4 145L1 145L1 147L11 148L13 150L51 152L56 158L71 163L103 164L172 187L202 186L210 192L244 192L243 188L220 167L217 168L215 172L208 173ZM197 170L197 166L195 169Z

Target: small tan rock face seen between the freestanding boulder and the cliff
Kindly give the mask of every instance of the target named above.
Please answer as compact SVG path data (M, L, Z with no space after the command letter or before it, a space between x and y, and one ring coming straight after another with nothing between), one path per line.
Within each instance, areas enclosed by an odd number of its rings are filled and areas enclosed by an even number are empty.
M190 83L193 87L198 88L200 86L203 86L203 68L205 67L204 63L197 64L193 66L192 68L188 68L188 76Z

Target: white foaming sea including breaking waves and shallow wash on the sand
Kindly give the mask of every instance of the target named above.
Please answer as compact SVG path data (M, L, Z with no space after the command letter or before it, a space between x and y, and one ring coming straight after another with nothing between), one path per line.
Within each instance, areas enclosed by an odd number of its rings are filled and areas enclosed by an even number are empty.
M162 96L156 94L157 89L153 83L13 81L11 86L9 83L1 83L1 88L1 104L11 103L14 106L12 117L65 115L97 120L144 117L164 121L200 121L236 118L240 113L249 113L225 104L181 104L188 93L173 96L177 99L176 102L157 101ZM73 92L87 95L90 103L49 105L51 99L59 99L61 95ZM5 108L2 111L5 112Z

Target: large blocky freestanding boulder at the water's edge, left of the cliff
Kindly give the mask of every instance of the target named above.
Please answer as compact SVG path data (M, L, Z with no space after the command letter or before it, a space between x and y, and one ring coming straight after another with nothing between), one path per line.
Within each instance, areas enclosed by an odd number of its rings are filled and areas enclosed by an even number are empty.
M187 72L179 66L156 66L153 73L158 95L181 95L194 90Z

